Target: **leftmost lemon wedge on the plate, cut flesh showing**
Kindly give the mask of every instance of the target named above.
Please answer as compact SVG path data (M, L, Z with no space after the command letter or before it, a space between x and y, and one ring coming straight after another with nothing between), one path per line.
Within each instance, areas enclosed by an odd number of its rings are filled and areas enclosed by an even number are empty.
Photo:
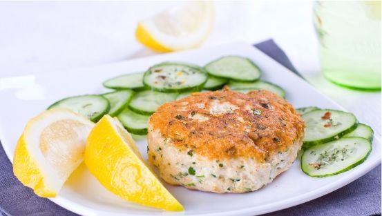
M93 122L66 109L30 119L15 149L13 173L40 197L55 197L82 163Z

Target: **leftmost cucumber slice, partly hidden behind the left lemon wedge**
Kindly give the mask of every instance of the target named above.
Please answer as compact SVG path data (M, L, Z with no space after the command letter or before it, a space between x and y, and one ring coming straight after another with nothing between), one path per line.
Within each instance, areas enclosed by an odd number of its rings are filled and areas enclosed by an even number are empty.
M108 100L101 95L80 95L75 97L66 97L54 104L50 105L47 110L51 108L68 108L73 112L84 115L90 121L97 122L110 110Z

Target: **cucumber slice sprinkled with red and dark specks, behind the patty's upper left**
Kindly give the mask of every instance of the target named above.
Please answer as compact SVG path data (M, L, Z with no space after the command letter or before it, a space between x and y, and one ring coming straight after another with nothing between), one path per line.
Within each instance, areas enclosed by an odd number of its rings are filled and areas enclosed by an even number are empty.
M198 91L207 81L207 72L189 63L164 62L144 73L144 85L159 92Z

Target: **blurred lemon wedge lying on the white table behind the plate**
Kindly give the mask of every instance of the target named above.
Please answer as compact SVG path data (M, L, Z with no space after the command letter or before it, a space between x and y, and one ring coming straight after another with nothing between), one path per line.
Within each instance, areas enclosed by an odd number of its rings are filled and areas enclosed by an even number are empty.
M153 50L184 50L195 48L207 39L212 23L211 1L186 1L140 21L135 37Z

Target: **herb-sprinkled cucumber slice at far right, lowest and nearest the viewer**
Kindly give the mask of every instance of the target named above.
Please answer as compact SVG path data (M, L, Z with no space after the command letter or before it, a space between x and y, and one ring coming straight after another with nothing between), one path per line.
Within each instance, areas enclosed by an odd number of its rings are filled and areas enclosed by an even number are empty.
M372 143L361 137L343 137L304 151L301 168L312 177L343 173L362 164L372 150Z

